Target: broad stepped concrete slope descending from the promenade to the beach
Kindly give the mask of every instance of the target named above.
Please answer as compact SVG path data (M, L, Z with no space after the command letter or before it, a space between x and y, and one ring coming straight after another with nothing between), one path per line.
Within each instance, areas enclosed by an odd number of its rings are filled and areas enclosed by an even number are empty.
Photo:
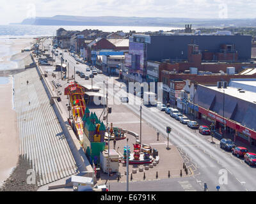
M37 185L76 173L74 157L36 69L19 73L14 79L20 154L31 161Z

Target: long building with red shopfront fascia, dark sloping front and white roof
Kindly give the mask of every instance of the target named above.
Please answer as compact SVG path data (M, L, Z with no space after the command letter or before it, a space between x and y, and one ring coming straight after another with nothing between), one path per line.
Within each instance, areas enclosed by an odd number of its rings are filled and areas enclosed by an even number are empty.
M227 87L197 85L196 116L220 135L256 146L256 80L232 79Z

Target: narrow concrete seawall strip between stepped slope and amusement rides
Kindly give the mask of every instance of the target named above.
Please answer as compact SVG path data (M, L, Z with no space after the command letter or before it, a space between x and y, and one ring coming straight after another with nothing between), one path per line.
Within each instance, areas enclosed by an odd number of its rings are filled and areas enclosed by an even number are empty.
M33 62L36 62L33 54L31 54L31 58ZM37 63L36 63L36 71L40 76L40 79L42 81L42 84L44 85L45 91L47 92L47 96L51 101L52 108L54 109L54 112L56 113L58 121L60 122L60 126L63 129L63 133L66 136L68 146L72 152L72 155L74 156L78 170L80 171L80 173L86 171L87 176L92 177L93 175L92 166L90 165L87 157L85 156L83 149L81 147L81 144L79 143L79 140L77 140L74 131L72 130L71 126L67 122L68 114L65 108L60 103L58 103L56 94L52 92L51 85L48 84L47 79L44 77L42 69Z

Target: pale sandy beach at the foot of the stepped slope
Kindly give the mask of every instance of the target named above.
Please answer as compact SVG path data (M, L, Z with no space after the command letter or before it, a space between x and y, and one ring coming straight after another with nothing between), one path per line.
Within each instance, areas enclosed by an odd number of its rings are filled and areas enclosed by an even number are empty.
M6 43L3 47L8 48L4 54L3 50L0 52L3 54L0 55L0 186L8 179L19 159L17 117L12 105L12 75L23 71L24 66L31 63L30 52L21 53L21 50L30 48L33 41L32 38L0 41L0 47Z

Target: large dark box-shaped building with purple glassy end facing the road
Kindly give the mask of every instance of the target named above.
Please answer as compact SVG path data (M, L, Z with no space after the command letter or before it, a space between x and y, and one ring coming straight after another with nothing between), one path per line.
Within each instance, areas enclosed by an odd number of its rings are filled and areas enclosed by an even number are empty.
M147 61L166 61L172 70L180 72L189 67L214 72L227 68L227 64L223 66L218 61L239 61L241 68L241 61L251 59L251 45L252 36L132 34L129 53L125 55L125 68L143 80L147 78ZM228 66L236 67L236 64Z

